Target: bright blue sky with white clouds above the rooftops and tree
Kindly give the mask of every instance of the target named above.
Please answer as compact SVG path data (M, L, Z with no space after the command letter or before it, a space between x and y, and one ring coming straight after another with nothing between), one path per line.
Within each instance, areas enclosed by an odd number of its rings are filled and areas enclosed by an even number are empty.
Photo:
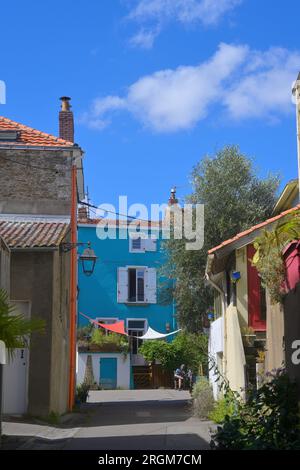
M201 157L238 144L297 176L298 0L16 0L1 6L0 114L57 134L72 97L96 204L189 193Z

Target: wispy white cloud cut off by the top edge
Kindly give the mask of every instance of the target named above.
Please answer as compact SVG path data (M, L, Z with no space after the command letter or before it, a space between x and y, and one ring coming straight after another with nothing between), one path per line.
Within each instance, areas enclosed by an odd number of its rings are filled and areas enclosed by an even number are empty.
M217 24L230 10L243 0L136 0L128 15L130 20L142 25L131 38L135 46L151 48L163 26L177 21L182 24ZM147 28L145 29L145 25ZM150 40L151 38L151 40ZM143 40L144 39L144 40ZM145 46L146 44L146 46Z

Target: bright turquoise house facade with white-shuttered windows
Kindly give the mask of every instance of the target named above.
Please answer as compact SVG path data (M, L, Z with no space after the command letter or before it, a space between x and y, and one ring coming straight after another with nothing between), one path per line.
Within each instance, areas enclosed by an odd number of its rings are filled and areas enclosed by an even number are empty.
M106 222L98 219L78 223L79 242L91 243L98 257L94 272L86 276L78 265L78 324L88 320L80 312L102 323L124 320L130 336L142 336L150 326L160 333L176 329L175 304L170 285L161 278L160 268L166 254L162 249L159 223L141 225L136 239L128 235L125 221ZM144 235L147 234L147 238ZM79 248L79 254L84 248ZM173 336L168 337L171 341ZM138 354L140 340L132 338L131 363L143 365Z

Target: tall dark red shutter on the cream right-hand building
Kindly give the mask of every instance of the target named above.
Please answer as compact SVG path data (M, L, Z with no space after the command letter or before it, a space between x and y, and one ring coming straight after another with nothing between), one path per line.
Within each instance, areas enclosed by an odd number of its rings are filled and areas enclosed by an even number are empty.
M248 274L248 323L255 331L265 331L266 321L261 318L261 285L257 269L252 266L251 259L255 253L253 245L247 246Z

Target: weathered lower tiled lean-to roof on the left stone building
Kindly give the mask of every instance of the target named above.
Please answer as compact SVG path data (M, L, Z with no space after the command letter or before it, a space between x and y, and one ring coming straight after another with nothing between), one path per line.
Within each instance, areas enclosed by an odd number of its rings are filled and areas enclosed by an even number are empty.
M1 221L0 235L10 248L59 246L69 224L62 222Z

